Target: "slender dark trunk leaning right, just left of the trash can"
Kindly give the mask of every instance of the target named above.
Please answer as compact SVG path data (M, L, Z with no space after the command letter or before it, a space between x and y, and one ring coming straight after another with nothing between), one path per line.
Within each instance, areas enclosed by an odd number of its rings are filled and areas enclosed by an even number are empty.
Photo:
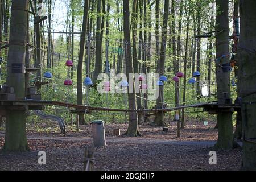
M82 63L84 62L84 49L86 38L86 26L88 21L89 0L84 3L84 16L82 22L82 35L80 38L79 61L77 64L77 104L82 105ZM79 124L85 125L84 114L79 114Z

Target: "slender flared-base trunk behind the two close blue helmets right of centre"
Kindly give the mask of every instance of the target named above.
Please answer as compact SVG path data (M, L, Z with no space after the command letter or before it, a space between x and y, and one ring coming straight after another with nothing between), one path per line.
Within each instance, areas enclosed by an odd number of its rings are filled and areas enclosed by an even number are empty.
M167 41L167 25L168 25L168 13L169 13L169 0L164 0L164 16L162 25L162 43L161 43L161 55L159 61L159 76L164 75L164 62L166 57L166 41ZM163 107L163 86L159 86L159 97L156 100L156 107L158 109ZM166 126L164 123L164 114L159 112L155 115L154 123L156 126Z

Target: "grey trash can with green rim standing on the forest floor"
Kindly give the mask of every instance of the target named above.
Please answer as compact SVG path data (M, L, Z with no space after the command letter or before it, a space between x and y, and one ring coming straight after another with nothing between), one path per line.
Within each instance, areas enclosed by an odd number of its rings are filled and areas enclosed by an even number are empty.
M96 147L106 146L104 121L92 121L93 143Z

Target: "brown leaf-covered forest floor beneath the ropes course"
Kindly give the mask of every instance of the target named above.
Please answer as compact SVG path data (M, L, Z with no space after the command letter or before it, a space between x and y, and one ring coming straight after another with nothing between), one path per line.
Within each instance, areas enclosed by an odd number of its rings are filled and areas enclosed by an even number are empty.
M240 148L217 152L217 165L209 164L209 151L218 137L216 122L189 121L176 138L176 123L168 131L147 123L139 126L142 137L114 137L113 129L125 133L125 124L105 124L106 147L95 148L95 170L239 170ZM44 130L39 130L44 129ZM48 130L46 130L48 129ZM5 131L0 131L0 150ZM92 126L80 126L77 133L68 126L59 134L55 123L28 124L27 138L31 152L0 153L0 170L82 170L85 146L93 144ZM38 151L46 152L46 165L38 164Z

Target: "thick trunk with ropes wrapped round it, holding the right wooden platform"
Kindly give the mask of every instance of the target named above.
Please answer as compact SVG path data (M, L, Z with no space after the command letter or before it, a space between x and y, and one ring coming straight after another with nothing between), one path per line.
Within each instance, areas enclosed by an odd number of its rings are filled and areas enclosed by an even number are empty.
M216 55L229 54L229 21L228 21L228 0L217 0L218 13L216 17ZM225 64L229 64L229 57L217 61L217 96L218 103L225 104L229 102L226 98L230 98L230 75L229 69ZM232 112L218 112L218 140L215 148L228 150L233 148L233 126Z

